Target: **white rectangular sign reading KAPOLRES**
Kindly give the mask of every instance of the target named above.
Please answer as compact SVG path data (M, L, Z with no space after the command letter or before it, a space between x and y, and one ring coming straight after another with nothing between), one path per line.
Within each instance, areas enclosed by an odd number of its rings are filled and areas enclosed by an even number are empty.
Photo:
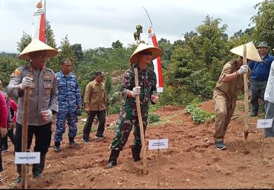
M40 152L15 152L15 163L40 163Z

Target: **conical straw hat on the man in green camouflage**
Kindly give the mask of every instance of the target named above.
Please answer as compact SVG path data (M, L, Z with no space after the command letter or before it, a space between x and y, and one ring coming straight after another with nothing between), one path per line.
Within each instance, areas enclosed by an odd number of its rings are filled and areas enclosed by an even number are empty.
M159 47L154 47L152 45L146 45L145 43L140 43L134 53L129 58L129 62L131 64L137 64L138 63L138 53L142 52L143 50L150 50L152 52L152 60L159 57L161 54L161 49Z

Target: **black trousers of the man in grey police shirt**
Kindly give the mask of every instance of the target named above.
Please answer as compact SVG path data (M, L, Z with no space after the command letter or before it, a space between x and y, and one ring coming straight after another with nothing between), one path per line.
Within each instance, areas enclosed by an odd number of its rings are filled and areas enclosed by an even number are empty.
M35 136L34 152L41 152L41 156L48 152L48 145L51 140L51 124L41 126L28 126L27 149L30 149L32 138ZM15 131L15 152L22 152L22 124L16 123Z

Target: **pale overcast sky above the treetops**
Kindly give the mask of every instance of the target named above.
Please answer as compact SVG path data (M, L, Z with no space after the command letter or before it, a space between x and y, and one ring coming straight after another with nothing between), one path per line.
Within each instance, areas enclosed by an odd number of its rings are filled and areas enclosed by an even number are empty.
M111 47L119 40L134 43L136 24L143 26L141 39L147 40L150 15L157 40L173 43L186 32L203 24L206 15L228 24L226 34L250 28L257 14L254 4L262 0L45 0L45 17L55 34L57 46L68 34L71 45L83 50ZM23 31L31 35L34 7L39 0L0 0L0 52L17 52ZM252 25L253 26L253 25Z

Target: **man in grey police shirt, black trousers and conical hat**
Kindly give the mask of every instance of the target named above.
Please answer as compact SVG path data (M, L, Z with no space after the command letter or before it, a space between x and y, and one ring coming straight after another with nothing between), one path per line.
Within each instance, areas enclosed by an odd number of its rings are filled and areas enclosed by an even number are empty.
M35 136L34 152L41 152L40 163L34 163L32 173L34 178L41 177L45 167L45 154L51 140L52 113L57 112L57 81L55 73L46 68L48 57L54 57L58 51L45 43L34 40L24 48L19 59L28 60L29 64L16 68L10 76L6 89L8 96L17 96L18 108L15 131L15 152L22 152L22 122L24 109L24 90L29 88L29 118L27 131L27 148L30 149ZM31 61L30 61L31 60ZM41 113L41 110L48 109ZM19 174L16 182L22 181L21 164L17 164Z

